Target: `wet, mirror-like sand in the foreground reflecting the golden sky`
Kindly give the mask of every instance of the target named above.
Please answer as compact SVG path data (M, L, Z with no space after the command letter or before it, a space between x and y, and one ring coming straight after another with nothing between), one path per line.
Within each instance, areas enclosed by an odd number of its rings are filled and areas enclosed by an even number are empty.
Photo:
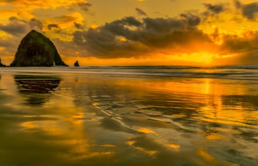
M2 73L0 165L258 163L255 80Z

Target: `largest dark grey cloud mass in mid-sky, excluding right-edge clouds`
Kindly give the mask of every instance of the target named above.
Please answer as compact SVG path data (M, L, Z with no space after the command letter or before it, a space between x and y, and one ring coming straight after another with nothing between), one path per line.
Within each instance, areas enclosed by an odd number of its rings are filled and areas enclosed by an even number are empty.
M97 29L76 31L73 41L101 58L137 57L157 49L184 47L197 40L210 42L209 37L196 28L201 22L198 16L183 14L182 17L184 19L146 17L142 20L125 17Z

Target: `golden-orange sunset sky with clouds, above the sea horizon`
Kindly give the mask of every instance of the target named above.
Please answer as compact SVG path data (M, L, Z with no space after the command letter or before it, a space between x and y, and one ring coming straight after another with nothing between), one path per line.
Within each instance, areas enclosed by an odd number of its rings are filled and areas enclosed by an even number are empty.
M0 0L0 58L32 29L68 65L258 65L258 1Z

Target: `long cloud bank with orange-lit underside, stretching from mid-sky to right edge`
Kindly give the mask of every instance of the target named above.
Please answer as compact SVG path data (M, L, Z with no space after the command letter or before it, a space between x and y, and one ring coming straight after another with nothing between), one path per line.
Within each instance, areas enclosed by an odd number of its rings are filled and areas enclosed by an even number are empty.
M242 54L246 59L258 56L254 56L258 50L258 31L239 36L216 29L213 34L206 34L197 28L200 24L201 18L190 12L175 18L125 17L96 29L76 31L73 43L83 55L97 58L210 52L211 48L214 54L221 56ZM220 39L223 43L216 44L215 40Z

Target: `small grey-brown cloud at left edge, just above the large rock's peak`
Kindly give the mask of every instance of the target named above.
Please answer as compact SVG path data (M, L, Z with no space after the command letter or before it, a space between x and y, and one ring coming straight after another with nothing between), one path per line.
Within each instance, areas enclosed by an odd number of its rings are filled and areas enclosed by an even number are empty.
M19 19L17 17L10 17L7 25L0 24L0 30L5 31L14 36L22 35L30 31L31 29L42 30L42 23L32 18L27 22L26 20Z

